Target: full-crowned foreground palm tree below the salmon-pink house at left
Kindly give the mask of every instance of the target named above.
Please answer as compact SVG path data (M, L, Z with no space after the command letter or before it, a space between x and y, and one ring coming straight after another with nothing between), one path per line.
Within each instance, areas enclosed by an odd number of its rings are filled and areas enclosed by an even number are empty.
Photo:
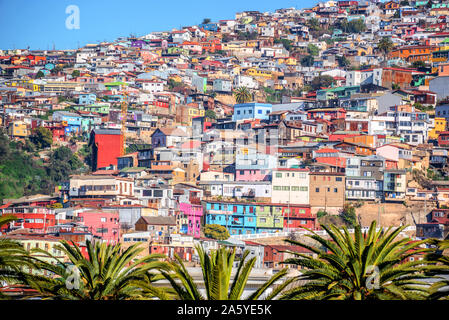
M143 250L138 244L122 249L121 244L93 244L86 241L86 247L87 258L73 242L71 245L67 241L61 241L59 248L68 257L68 263L42 249L35 249L50 258L40 261L40 270L49 271L54 276L32 279L29 285L45 299L123 300L168 297L163 288L149 285L162 279L160 273L153 271L169 270L168 263L160 260L164 255L150 254L138 258L137 255ZM141 283L146 284L145 288L140 286Z

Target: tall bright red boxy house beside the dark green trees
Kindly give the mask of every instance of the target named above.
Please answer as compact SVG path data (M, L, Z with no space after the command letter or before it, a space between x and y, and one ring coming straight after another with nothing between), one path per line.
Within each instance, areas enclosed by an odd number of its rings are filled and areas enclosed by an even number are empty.
M89 146L92 147L92 171L109 166L117 166L123 138L120 130L94 129L91 132Z

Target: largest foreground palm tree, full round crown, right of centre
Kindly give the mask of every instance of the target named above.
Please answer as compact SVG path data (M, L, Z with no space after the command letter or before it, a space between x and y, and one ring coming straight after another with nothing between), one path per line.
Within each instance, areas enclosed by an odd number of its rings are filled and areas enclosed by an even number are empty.
M401 300L426 297L426 283L421 281L427 277L423 274L423 261L406 262L408 257L429 250L420 248L425 240L397 240L405 227L376 231L375 221L368 233L362 233L357 225L353 236L346 227L343 231L335 225L322 227L330 240L315 232L309 235L320 246L286 240L310 250L317 257L297 253L295 258L284 261L306 268L297 279L305 284L285 293L281 299Z

